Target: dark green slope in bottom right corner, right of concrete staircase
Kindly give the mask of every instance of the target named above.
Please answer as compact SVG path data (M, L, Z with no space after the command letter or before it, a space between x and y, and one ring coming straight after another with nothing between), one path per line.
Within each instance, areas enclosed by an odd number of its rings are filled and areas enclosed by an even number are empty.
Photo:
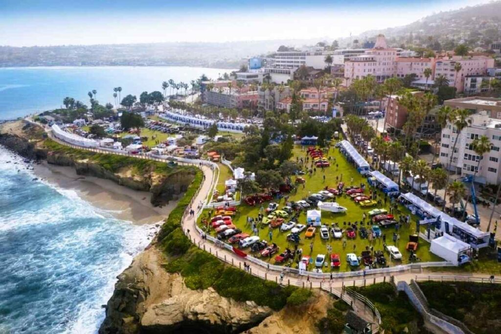
M501 286L498 284L434 281L418 284L430 307L464 322L471 331L489 334L501 331L498 321Z

